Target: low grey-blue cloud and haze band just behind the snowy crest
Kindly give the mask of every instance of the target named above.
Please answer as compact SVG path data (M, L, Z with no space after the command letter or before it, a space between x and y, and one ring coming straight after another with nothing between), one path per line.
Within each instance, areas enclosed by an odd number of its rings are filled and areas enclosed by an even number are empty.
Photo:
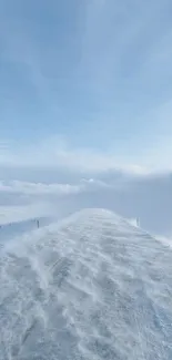
M61 183L1 182L1 224L18 217L62 217L85 207L103 207L128 218L139 217L146 230L171 235L171 174L138 176L113 171L79 177L75 174L75 179L70 178L70 173L65 173Z

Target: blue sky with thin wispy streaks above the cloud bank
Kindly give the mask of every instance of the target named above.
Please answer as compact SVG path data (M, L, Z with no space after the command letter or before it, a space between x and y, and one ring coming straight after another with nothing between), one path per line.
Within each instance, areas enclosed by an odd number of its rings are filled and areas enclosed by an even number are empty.
M170 0L0 0L0 160L171 167L171 44Z

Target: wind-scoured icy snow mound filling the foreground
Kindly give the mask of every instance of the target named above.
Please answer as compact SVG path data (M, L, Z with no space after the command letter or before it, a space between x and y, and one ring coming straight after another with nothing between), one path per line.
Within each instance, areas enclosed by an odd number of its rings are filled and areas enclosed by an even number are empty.
M83 210L0 251L0 359L172 359L172 251Z

